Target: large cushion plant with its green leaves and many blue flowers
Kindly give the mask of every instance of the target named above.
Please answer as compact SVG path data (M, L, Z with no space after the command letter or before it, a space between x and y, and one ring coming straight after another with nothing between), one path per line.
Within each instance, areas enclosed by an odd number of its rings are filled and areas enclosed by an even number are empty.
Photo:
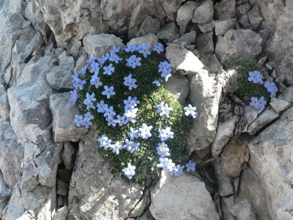
M161 85L172 75L172 65L156 58L163 51L160 43L152 53L146 44L113 46L72 75L71 101L81 111L76 126L95 125L98 152L112 172L135 182L157 178L160 169L180 176L182 163L195 170L184 146L196 108L179 103Z

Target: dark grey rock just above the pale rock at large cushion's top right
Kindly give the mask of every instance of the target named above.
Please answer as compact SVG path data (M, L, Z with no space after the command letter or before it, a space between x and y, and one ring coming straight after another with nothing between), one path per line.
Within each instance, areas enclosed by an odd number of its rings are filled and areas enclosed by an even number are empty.
M160 21L156 18L153 18L152 16L147 15L146 18L143 20L143 23L140 25L139 30L136 32L136 37L142 37L147 34L156 35L160 28Z

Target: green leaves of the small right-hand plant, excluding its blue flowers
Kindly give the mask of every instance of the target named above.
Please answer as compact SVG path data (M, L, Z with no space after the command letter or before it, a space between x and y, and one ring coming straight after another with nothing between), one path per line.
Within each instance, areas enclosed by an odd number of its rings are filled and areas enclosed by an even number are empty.
M237 68L236 70L239 74L237 77L237 83L239 85L239 89L236 94L238 94L238 96L241 97L246 103L250 102L251 97L259 98L263 96L265 100L269 100L270 93L263 86L263 84L248 81L248 73L250 71L259 71L259 66L257 65L256 60L252 58L230 60L226 61L224 65L226 68Z

